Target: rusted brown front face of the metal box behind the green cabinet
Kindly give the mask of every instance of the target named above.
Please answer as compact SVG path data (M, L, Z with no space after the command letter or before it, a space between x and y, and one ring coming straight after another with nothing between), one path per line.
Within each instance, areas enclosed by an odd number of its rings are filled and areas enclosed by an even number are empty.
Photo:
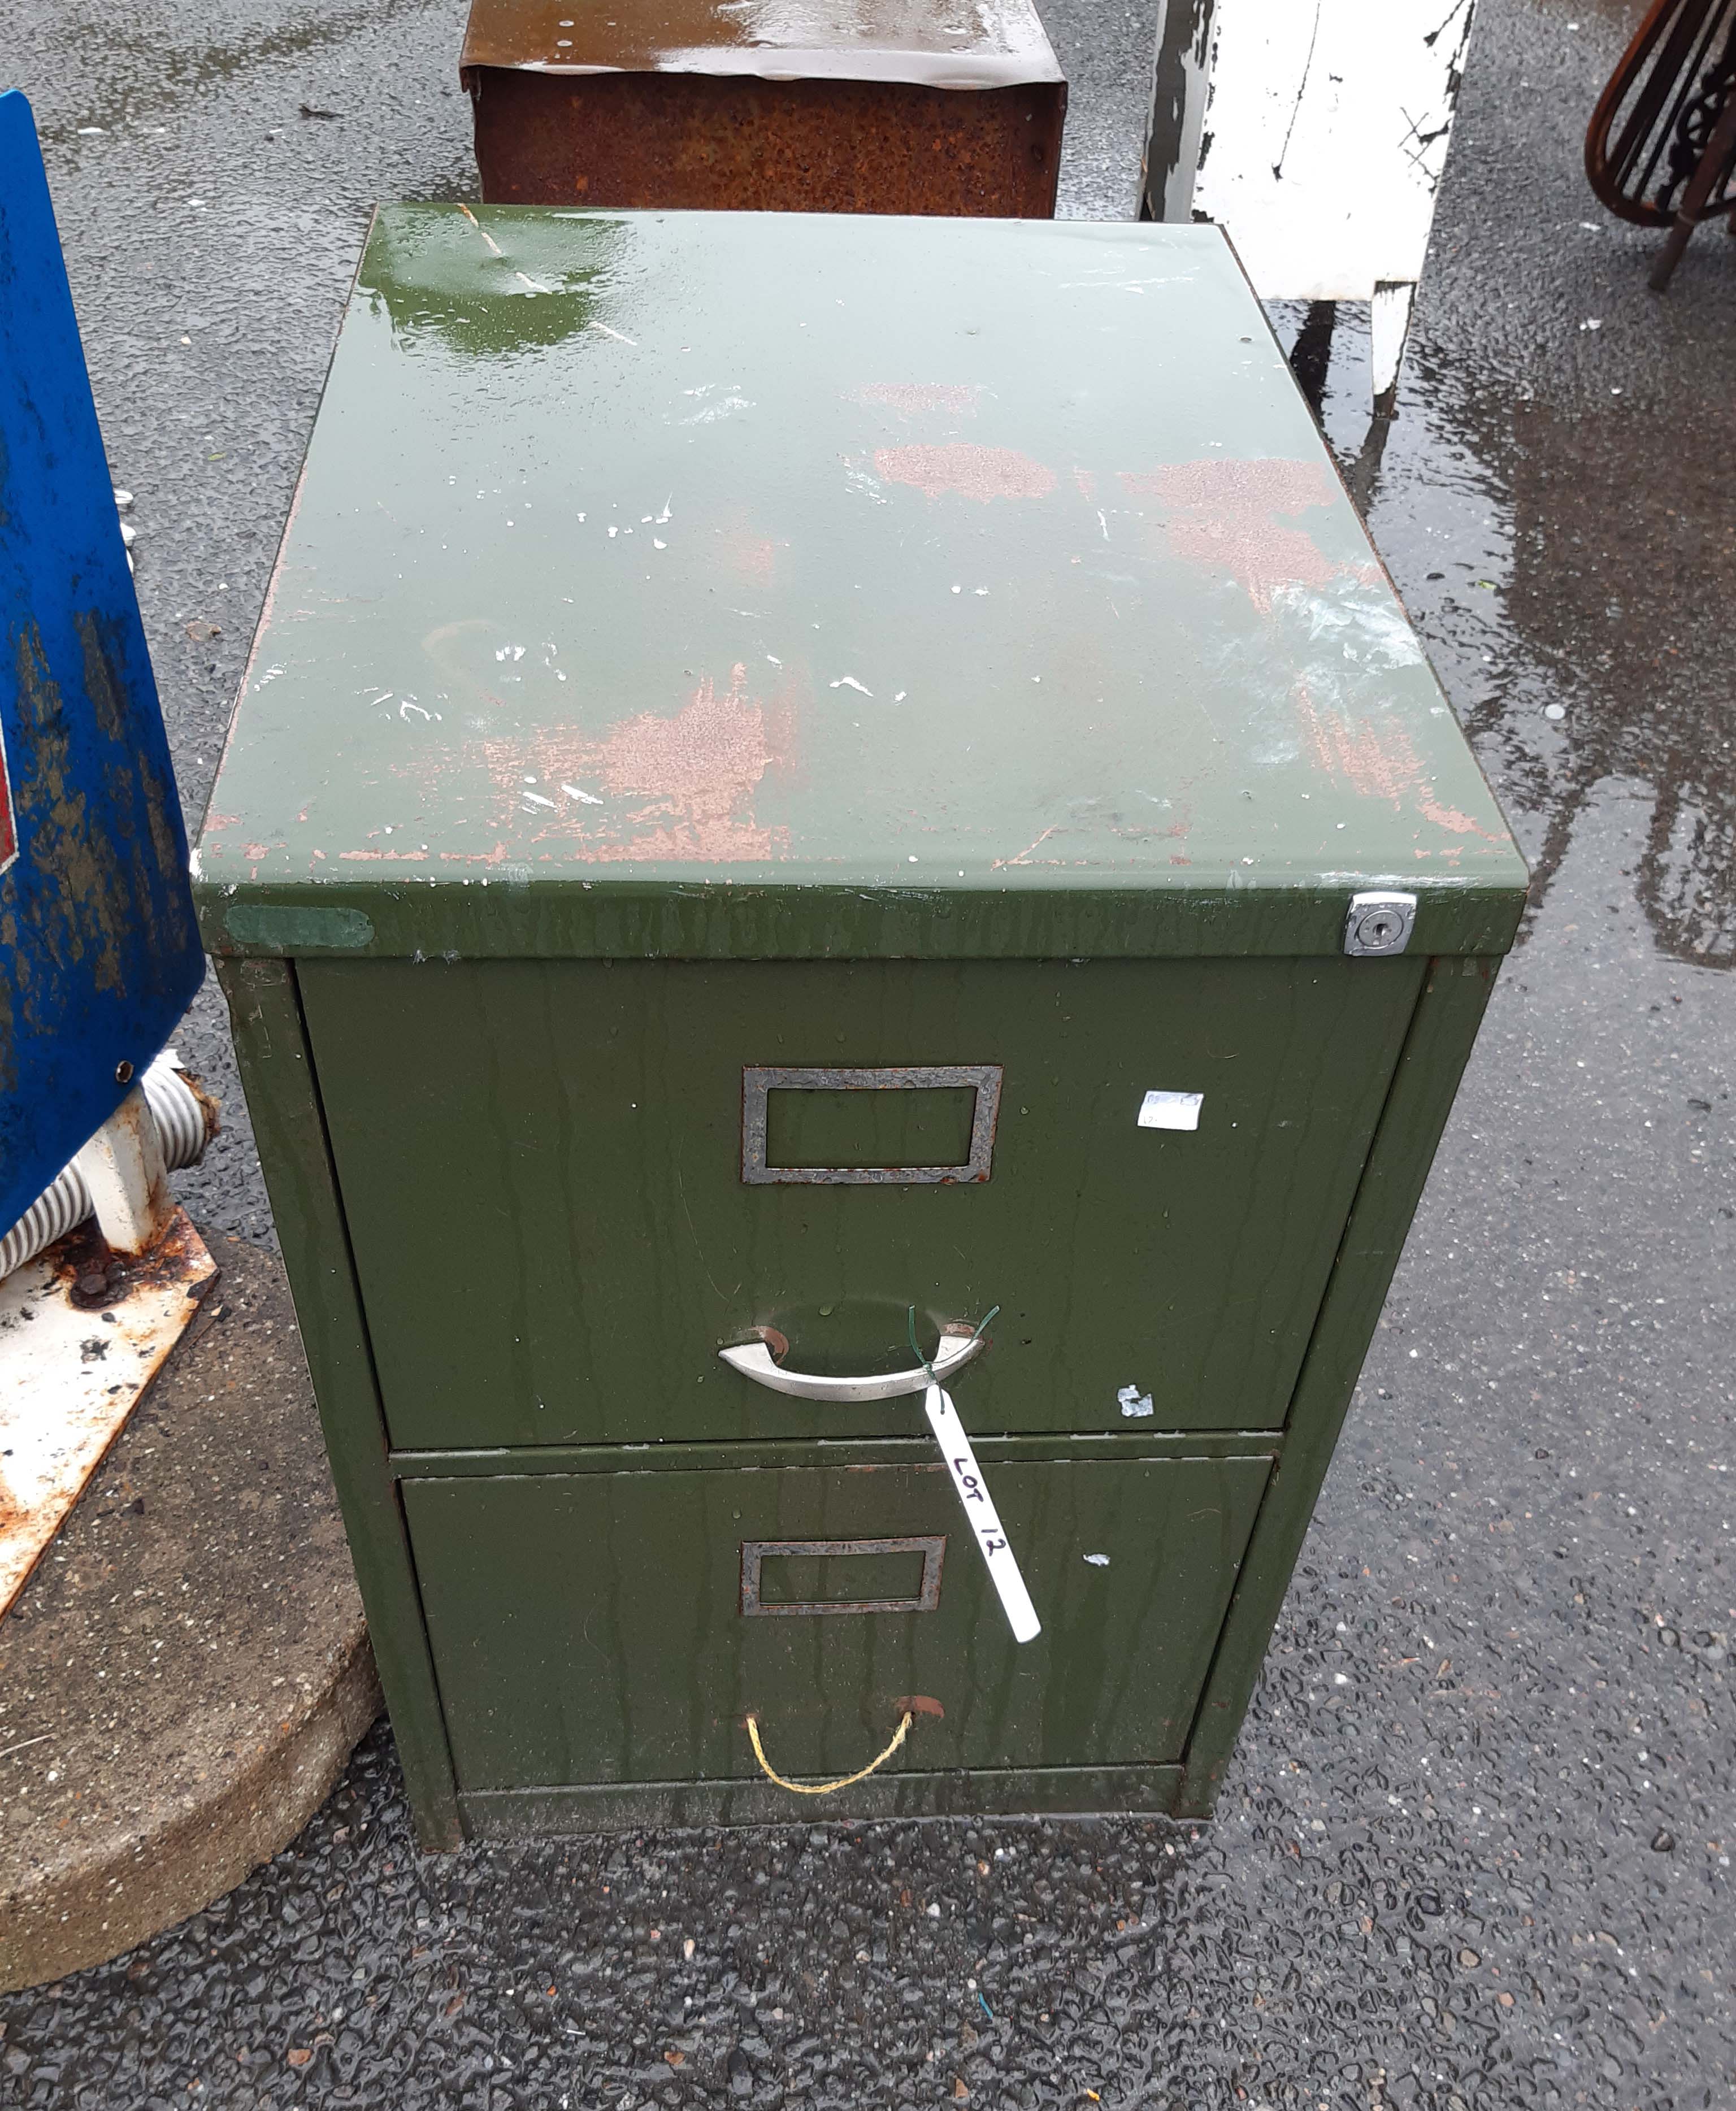
M1067 87L465 68L490 205L1050 220Z

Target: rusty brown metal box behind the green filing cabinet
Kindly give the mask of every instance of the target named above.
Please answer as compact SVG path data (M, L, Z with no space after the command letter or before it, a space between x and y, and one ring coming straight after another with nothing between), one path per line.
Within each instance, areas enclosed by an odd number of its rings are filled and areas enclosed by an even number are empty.
M1067 82L1031 0L473 0L492 205L1048 217Z

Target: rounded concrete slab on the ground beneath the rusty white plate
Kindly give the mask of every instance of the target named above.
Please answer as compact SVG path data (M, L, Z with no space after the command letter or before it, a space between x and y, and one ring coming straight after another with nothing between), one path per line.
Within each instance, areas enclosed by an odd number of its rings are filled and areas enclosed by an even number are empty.
M222 1898L380 1689L283 1269L222 1281L0 1619L0 1993Z

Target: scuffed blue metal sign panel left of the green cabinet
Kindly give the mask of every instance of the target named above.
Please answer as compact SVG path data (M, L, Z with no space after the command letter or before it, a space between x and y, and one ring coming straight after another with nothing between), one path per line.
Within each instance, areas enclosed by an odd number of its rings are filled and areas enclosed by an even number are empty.
M36 125L0 95L0 1231L108 1121L203 967Z

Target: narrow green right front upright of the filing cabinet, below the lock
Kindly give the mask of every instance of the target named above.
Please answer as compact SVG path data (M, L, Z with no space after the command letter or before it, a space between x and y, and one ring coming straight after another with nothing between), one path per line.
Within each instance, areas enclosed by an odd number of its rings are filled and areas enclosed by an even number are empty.
M1430 963L1206 1678L1176 1803L1183 1815L1210 1811L1235 1748L1497 967L1485 958Z

